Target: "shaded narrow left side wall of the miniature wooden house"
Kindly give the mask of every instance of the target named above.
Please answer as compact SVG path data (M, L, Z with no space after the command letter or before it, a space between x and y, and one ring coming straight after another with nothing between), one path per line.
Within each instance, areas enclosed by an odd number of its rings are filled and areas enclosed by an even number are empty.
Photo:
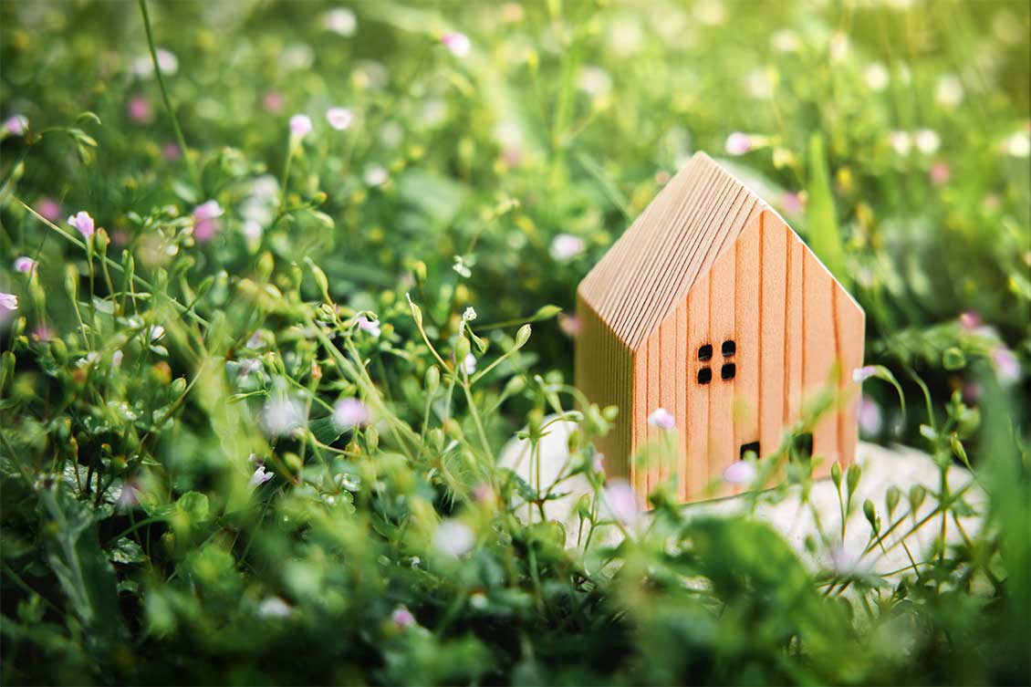
M576 387L591 402L601 407L618 405L620 408L611 431L597 438L595 448L605 455L608 476L632 480L633 356L579 295L576 317L581 325L575 337Z

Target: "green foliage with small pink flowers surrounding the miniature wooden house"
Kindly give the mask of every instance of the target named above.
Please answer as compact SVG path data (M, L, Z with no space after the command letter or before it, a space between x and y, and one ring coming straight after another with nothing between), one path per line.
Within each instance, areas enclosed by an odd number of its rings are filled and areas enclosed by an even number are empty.
M0 3L3 681L1031 681L1028 25L1020 3ZM850 284L887 420L864 432L938 465L869 499L834 465L840 521L806 543L829 566L672 484L646 521L616 508L592 439L620 408L570 385L576 284L696 150ZM539 466L563 420L554 484L499 467L513 435ZM793 447L745 502L816 517ZM574 477L566 532L542 516ZM842 552L853 512L868 541ZM924 559L870 571L918 526Z

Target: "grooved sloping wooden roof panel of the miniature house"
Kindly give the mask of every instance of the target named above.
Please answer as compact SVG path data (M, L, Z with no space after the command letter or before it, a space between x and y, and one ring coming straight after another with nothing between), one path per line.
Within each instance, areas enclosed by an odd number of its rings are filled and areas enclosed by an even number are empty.
M764 209L772 208L696 153L584 277L579 295L634 350Z

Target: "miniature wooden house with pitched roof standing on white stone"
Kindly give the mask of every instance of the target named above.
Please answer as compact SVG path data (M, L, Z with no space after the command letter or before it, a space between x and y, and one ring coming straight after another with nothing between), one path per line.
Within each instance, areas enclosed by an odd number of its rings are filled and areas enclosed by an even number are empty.
M835 403L811 435L823 459L852 461L864 314L785 221L699 153L663 188L577 289L576 385L620 417L598 441L609 476L641 496L677 478L681 500L734 493L723 471L775 452L809 397ZM676 462L635 464L675 420ZM738 488L739 490L739 488Z

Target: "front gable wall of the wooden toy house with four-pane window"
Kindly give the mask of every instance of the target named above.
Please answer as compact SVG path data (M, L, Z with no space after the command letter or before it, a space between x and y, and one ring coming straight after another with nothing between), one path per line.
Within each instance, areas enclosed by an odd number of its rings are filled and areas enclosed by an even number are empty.
M775 452L828 385L839 400L812 431L813 455L826 459L817 476L834 460L850 463L859 396L852 370L862 365L863 332L862 309L801 239L776 215L760 215L637 351L632 449L662 435L646 422L657 407L677 427L673 469L639 467L638 493L674 471L685 500L740 491L719 483L740 447L759 441L763 455ZM727 340L736 347L729 357ZM707 361L698 359L703 345L712 347ZM721 373L728 363L731 381ZM703 368L711 373L704 385Z

